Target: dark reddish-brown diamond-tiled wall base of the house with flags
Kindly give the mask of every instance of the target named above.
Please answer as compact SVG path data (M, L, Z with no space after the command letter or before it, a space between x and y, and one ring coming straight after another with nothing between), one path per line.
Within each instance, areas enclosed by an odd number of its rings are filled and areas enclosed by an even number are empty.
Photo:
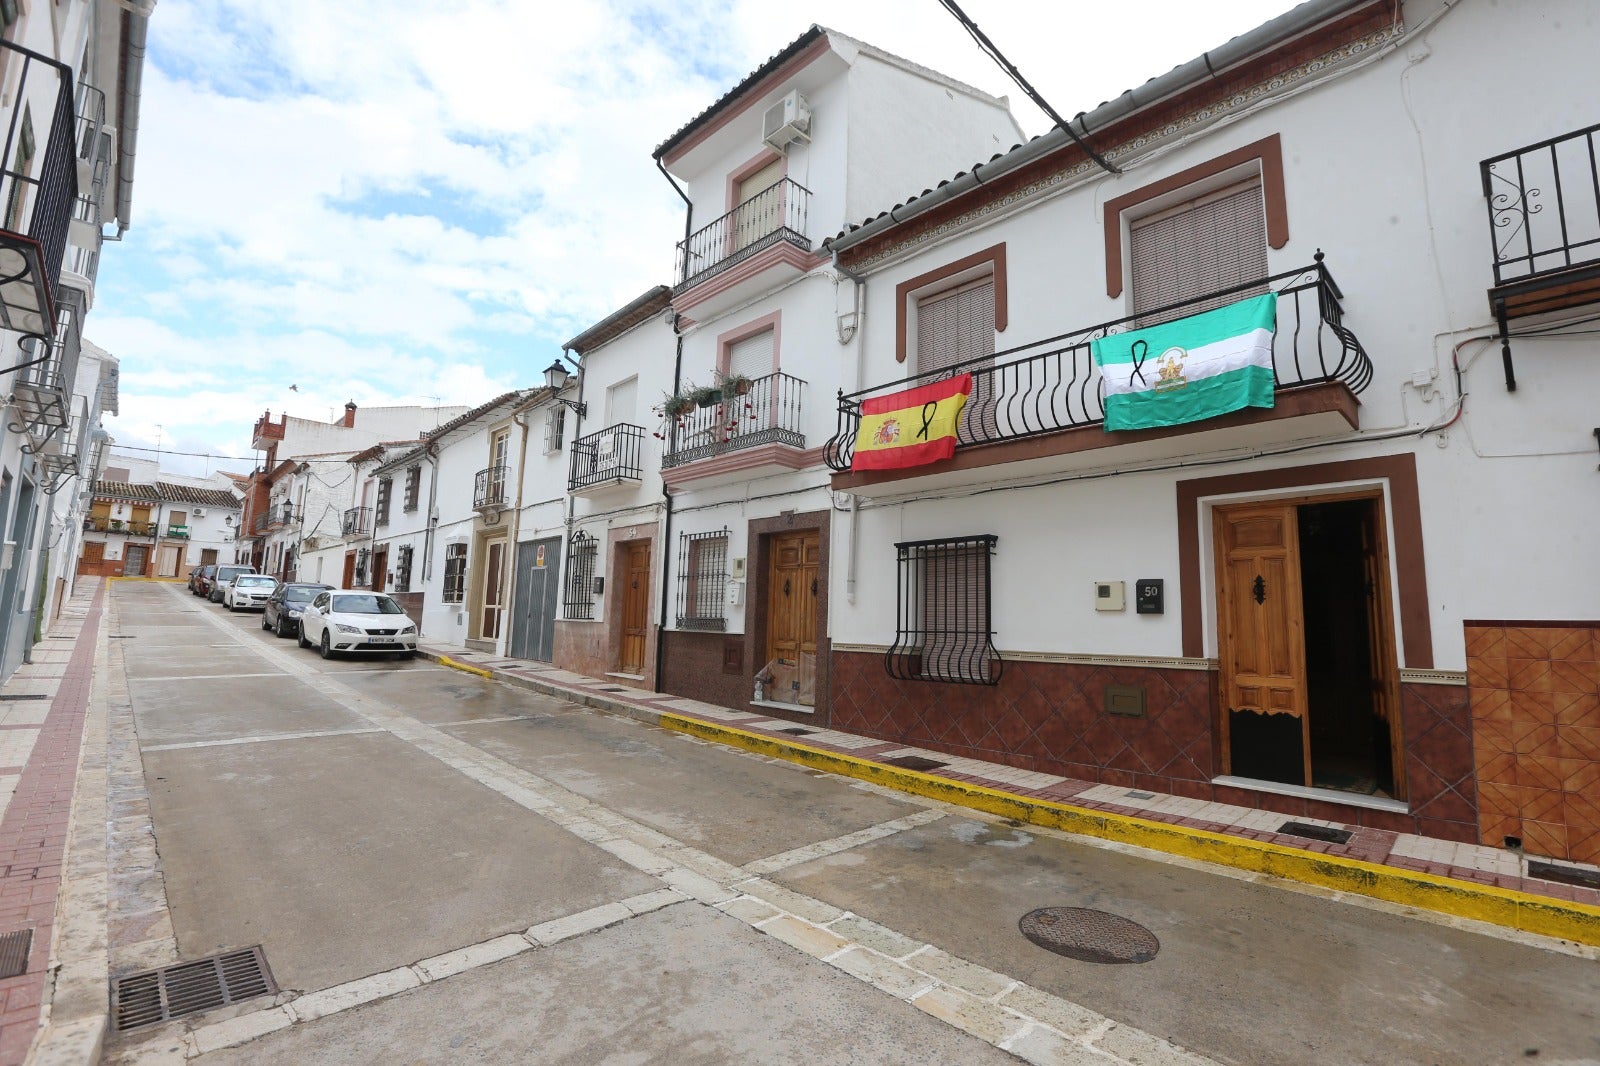
M1477 840L1466 688L1403 685L1411 813L1213 786L1216 674L1006 663L997 687L902 682L878 655L835 651L834 728L952 755L1346 824ZM1141 685L1144 717L1104 712L1106 685Z

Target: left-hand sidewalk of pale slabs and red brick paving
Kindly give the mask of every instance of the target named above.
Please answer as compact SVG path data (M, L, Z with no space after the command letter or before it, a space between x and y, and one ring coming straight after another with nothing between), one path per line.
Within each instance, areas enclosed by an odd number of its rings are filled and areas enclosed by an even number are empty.
M21 1063L48 1012L59 892L106 581L82 579L0 685L0 1063ZM14 951L14 954L13 954Z

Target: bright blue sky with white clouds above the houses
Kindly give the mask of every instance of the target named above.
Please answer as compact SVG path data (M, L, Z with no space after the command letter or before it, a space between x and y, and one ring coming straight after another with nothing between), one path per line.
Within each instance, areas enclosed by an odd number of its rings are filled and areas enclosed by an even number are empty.
M1291 0L963 6L1072 115ZM245 458L174 471L245 469L266 408L536 381L670 282L683 214L654 146L811 22L1048 128L938 0L160 0L133 227L88 319L122 359L112 434Z

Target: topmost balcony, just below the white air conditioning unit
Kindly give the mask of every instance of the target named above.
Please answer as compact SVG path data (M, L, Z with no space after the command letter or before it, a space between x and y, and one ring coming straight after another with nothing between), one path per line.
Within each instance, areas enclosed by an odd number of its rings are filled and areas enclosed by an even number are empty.
M784 178L776 186L733 208L717 221L678 242L674 303L701 307L701 314L738 303L747 290L765 288L810 269L811 238L806 237L806 210L811 192ZM755 282L768 267L786 275ZM717 285L709 282L717 280ZM686 299L685 299L686 298Z

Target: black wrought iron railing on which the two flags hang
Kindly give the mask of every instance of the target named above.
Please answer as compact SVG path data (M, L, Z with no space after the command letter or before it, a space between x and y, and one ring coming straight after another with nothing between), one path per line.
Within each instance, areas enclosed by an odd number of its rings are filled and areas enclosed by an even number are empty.
M838 432L824 447L824 458L835 471L850 469L862 400L958 373L973 375L973 392L957 426L957 448L1099 426L1106 421L1104 383L1090 352L1091 341L1138 330L1152 320L1181 317L1173 312L1186 307L1216 306L1219 298L1237 295L1243 299L1267 291L1278 298L1274 387L1282 391L1341 381L1350 392L1362 392L1373 378L1373 365L1362 343L1344 327L1342 293L1318 251L1317 261L1301 271L1274 274L1157 307L1141 317L1104 322L861 392L840 392Z

